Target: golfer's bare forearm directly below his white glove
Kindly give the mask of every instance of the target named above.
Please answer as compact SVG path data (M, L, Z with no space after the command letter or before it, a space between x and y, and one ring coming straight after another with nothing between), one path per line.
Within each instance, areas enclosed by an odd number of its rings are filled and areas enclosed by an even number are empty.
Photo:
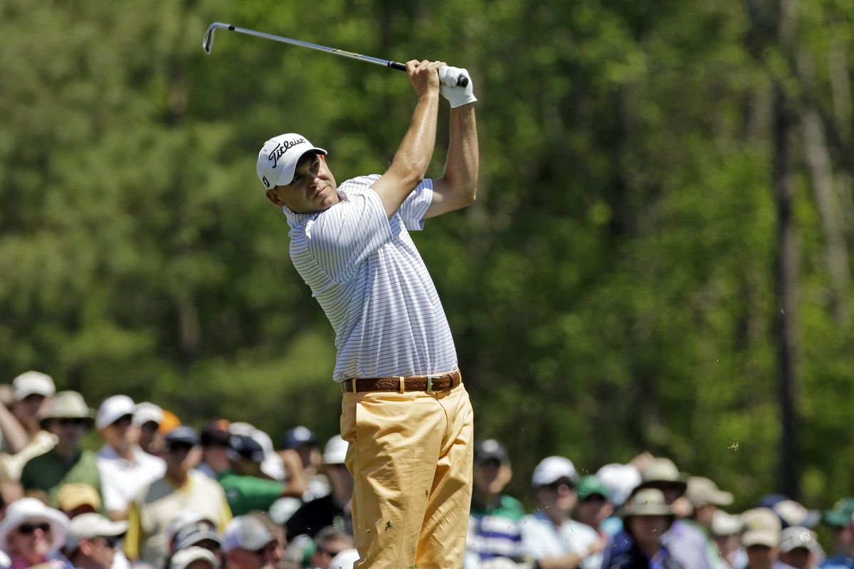
M475 200L479 166L480 153L477 149L474 105L453 108L451 109L451 140L447 146L443 177L453 191L453 198L459 200L460 206L467 206Z

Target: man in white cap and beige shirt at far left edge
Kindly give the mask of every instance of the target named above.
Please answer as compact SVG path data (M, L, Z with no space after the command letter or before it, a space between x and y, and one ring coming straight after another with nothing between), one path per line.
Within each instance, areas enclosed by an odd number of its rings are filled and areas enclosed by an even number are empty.
M7 479L19 480L20 471L34 456L56 444L56 436L43 431L38 418L50 404L56 387L50 375L38 371L20 374L12 381L14 403L8 409L0 405L0 466Z

